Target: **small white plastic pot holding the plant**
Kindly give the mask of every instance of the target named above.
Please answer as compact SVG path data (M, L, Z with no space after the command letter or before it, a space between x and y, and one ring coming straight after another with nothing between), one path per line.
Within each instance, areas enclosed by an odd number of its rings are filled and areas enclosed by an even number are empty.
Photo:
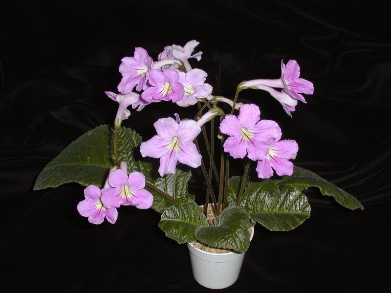
M254 228L251 233L253 239ZM195 248L187 243L193 276L202 286L223 289L231 286L239 277L244 252L213 253Z

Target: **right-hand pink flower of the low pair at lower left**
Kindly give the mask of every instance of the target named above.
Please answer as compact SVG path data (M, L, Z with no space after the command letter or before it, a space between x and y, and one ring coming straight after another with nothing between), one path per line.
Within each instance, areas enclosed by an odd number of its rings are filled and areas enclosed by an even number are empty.
M109 188L102 192L102 203L106 207L119 208L136 206L138 209L149 209L153 196L144 189L145 176L140 172L127 172L117 169L109 173Z

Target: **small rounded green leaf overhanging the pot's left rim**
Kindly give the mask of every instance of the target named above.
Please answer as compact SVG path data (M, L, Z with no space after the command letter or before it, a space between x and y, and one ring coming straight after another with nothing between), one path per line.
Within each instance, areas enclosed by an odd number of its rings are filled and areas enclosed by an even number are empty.
M166 236L179 244L195 241L195 229L208 226L202 209L193 203L179 203L166 209L159 222L159 227Z

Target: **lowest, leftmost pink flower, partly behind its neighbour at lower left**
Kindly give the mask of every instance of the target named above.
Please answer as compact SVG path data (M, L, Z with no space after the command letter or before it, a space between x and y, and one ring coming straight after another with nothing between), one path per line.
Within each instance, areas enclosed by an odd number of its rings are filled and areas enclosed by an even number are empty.
M95 185L88 185L84 189L85 200L77 205L77 210L83 217L88 217L88 222L101 224L106 219L114 224L118 217L117 209L105 206L101 201L102 191Z

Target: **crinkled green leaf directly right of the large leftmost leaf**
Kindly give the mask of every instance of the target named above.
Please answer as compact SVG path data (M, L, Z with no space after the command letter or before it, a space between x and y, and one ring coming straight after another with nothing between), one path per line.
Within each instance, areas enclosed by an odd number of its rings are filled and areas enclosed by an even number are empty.
M113 151L113 137L111 141L111 154L114 162ZM140 145L142 143L142 137L134 130L121 127L117 137L117 154L120 162L125 161L128 164L128 172L141 172L144 174L147 181L154 182L152 177L152 162L143 159L140 156L136 157L135 154L140 154Z

